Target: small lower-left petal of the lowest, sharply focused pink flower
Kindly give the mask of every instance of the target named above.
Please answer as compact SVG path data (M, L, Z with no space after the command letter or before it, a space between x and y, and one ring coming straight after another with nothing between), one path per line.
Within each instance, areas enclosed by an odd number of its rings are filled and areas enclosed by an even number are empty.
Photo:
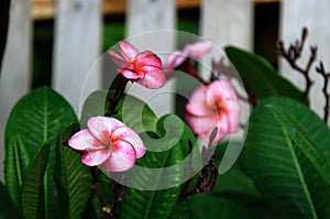
M88 151L81 156L81 162L88 166L98 166L102 164L109 156L111 156L111 154L112 151L110 149Z

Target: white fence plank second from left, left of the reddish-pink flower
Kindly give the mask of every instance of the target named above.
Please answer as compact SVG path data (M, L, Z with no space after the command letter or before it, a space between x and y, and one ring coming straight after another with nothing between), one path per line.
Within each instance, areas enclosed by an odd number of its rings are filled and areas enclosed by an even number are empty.
M91 75L89 70L100 53L102 1L59 0L57 3L53 86L79 112L86 95L100 87L98 67L95 66Z

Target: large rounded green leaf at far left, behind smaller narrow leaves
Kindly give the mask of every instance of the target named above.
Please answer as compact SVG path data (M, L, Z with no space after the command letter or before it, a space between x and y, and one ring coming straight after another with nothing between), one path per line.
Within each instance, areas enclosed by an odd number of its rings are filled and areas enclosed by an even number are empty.
M40 87L22 97L11 111L6 127L6 153L14 151L15 144L11 143L13 138L20 138L25 150L26 157L33 157L40 146L50 142L50 162L45 175L45 202L46 217L55 217L57 207L57 191L53 178L55 165L55 142L61 131L69 123L77 121L74 110L67 101L48 87ZM28 153L26 153L28 152ZM14 157L16 158L16 157ZM10 164L10 157L6 157L6 180L11 180L11 173L14 165ZM13 160L18 163L20 161ZM29 161L28 161L29 162ZM24 173L24 169L21 168ZM8 190L13 201L16 204L16 193L20 190L19 184L8 184Z

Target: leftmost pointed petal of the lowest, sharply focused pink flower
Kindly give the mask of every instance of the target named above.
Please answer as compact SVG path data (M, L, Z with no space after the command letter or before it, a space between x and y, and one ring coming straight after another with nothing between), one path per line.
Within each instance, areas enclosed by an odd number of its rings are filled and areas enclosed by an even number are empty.
M88 129L75 133L68 141L70 147L78 151L87 151L89 149L102 147L100 142L89 132Z

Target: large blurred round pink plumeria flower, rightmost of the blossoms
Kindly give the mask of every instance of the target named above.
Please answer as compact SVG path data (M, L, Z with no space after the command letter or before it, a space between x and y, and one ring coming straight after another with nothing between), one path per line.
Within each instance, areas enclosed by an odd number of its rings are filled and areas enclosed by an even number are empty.
M218 128L218 132L212 143L239 129L239 99L227 79L198 87L186 106L186 112L188 125L206 142L215 128Z

